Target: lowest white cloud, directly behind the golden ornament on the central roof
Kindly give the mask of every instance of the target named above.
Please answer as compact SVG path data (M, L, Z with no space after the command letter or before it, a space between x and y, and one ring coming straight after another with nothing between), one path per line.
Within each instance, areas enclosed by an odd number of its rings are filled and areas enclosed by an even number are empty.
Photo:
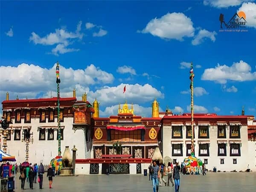
M117 115L119 105L113 105L111 107L106 107L104 111L99 111L99 116L109 117L111 115ZM128 107L131 108L131 104L128 104ZM121 103L122 108L122 103ZM159 111L162 111L159 108ZM134 105L134 114L140 115L142 117L151 117L152 116L152 108L151 107L143 107L140 105Z

